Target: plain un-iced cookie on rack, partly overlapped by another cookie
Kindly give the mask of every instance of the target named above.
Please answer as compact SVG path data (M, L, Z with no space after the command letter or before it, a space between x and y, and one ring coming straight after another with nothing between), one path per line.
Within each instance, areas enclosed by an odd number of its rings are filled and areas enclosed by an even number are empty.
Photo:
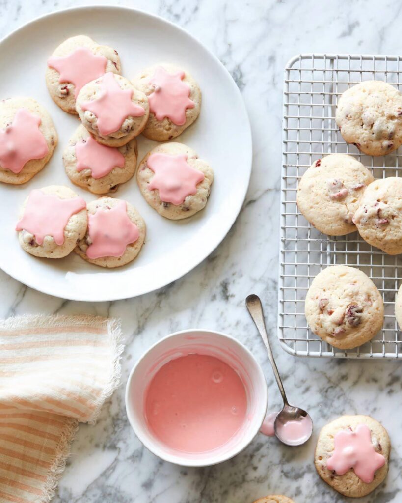
M319 231L342 236L356 230L352 217L374 180L351 155L330 154L306 171L297 187L297 206Z

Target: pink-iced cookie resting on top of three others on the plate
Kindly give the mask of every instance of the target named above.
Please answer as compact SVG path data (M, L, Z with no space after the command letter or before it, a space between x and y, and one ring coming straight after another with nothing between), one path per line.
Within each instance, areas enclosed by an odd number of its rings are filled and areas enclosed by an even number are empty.
M138 136L149 117L145 94L127 78L111 72L81 89L76 110L96 141L110 147L121 147Z

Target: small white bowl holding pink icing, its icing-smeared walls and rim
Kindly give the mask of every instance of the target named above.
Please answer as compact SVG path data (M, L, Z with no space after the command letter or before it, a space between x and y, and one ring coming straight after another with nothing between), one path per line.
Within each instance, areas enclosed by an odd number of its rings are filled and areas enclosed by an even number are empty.
M156 372L168 361L199 353L220 358L240 376L246 389L246 421L229 442L207 452L185 453L167 447L150 431L145 416L145 393ZM132 369L126 387L126 410L130 424L153 454L183 466L221 463L241 452L261 428L268 403L268 390L261 367L240 342L221 332L190 329L175 332L152 346Z

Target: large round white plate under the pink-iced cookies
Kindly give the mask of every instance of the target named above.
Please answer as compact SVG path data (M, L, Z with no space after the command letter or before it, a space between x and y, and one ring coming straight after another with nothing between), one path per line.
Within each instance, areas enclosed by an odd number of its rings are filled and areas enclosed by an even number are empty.
M76 117L60 110L45 85L47 58L63 40L88 35L117 49L123 75L129 79L143 67L169 61L183 66L203 93L201 113L178 141L208 160L215 181L205 210L189 219L167 220L145 202L135 177L114 197L137 207L147 224L147 238L138 258L107 270L86 263L75 253L61 260L38 259L18 243L18 209L32 189L72 184L62 152L78 126ZM202 262L222 241L235 221L251 172L251 132L246 109L232 77L204 46L177 26L143 12L120 7L83 7L39 18L0 43L0 99L30 96L49 110L59 144L43 171L24 186L0 187L0 267L18 281L57 297L105 301L134 297L161 288ZM157 143L138 138L139 158ZM91 193L75 188L86 201Z

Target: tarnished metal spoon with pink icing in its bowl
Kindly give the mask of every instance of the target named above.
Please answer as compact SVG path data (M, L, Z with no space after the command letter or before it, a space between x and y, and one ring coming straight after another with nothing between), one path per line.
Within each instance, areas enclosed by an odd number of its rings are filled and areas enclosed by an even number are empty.
M264 313L262 311L261 300L257 295L249 295L246 298L246 306L250 316L252 317L255 326L260 332L260 336L264 341L265 347L267 349L268 358L271 362L272 370L276 379L276 383L278 385L280 394L283 399L283 408L278 413L274 423L274 431L276 437L286 445L302 445L309 440L311 434L313 433L313 421L311 420L310 415L299 407L293 407L289 405L285 390L283 388L282 381L280 380L279 372L275 364L275 360L273 358L271 346L269 345L267 331L265 327L264 321ZM289 422L290 425L289 425ZM300 425L295 425L294 422L300 423ZM289 435L289 427L293 428L294 426L299 427L303 422L304 435L299 438L294 438L294 435ZM298 429L298 428L297 428ZM297 437L297 435L296 435Z

